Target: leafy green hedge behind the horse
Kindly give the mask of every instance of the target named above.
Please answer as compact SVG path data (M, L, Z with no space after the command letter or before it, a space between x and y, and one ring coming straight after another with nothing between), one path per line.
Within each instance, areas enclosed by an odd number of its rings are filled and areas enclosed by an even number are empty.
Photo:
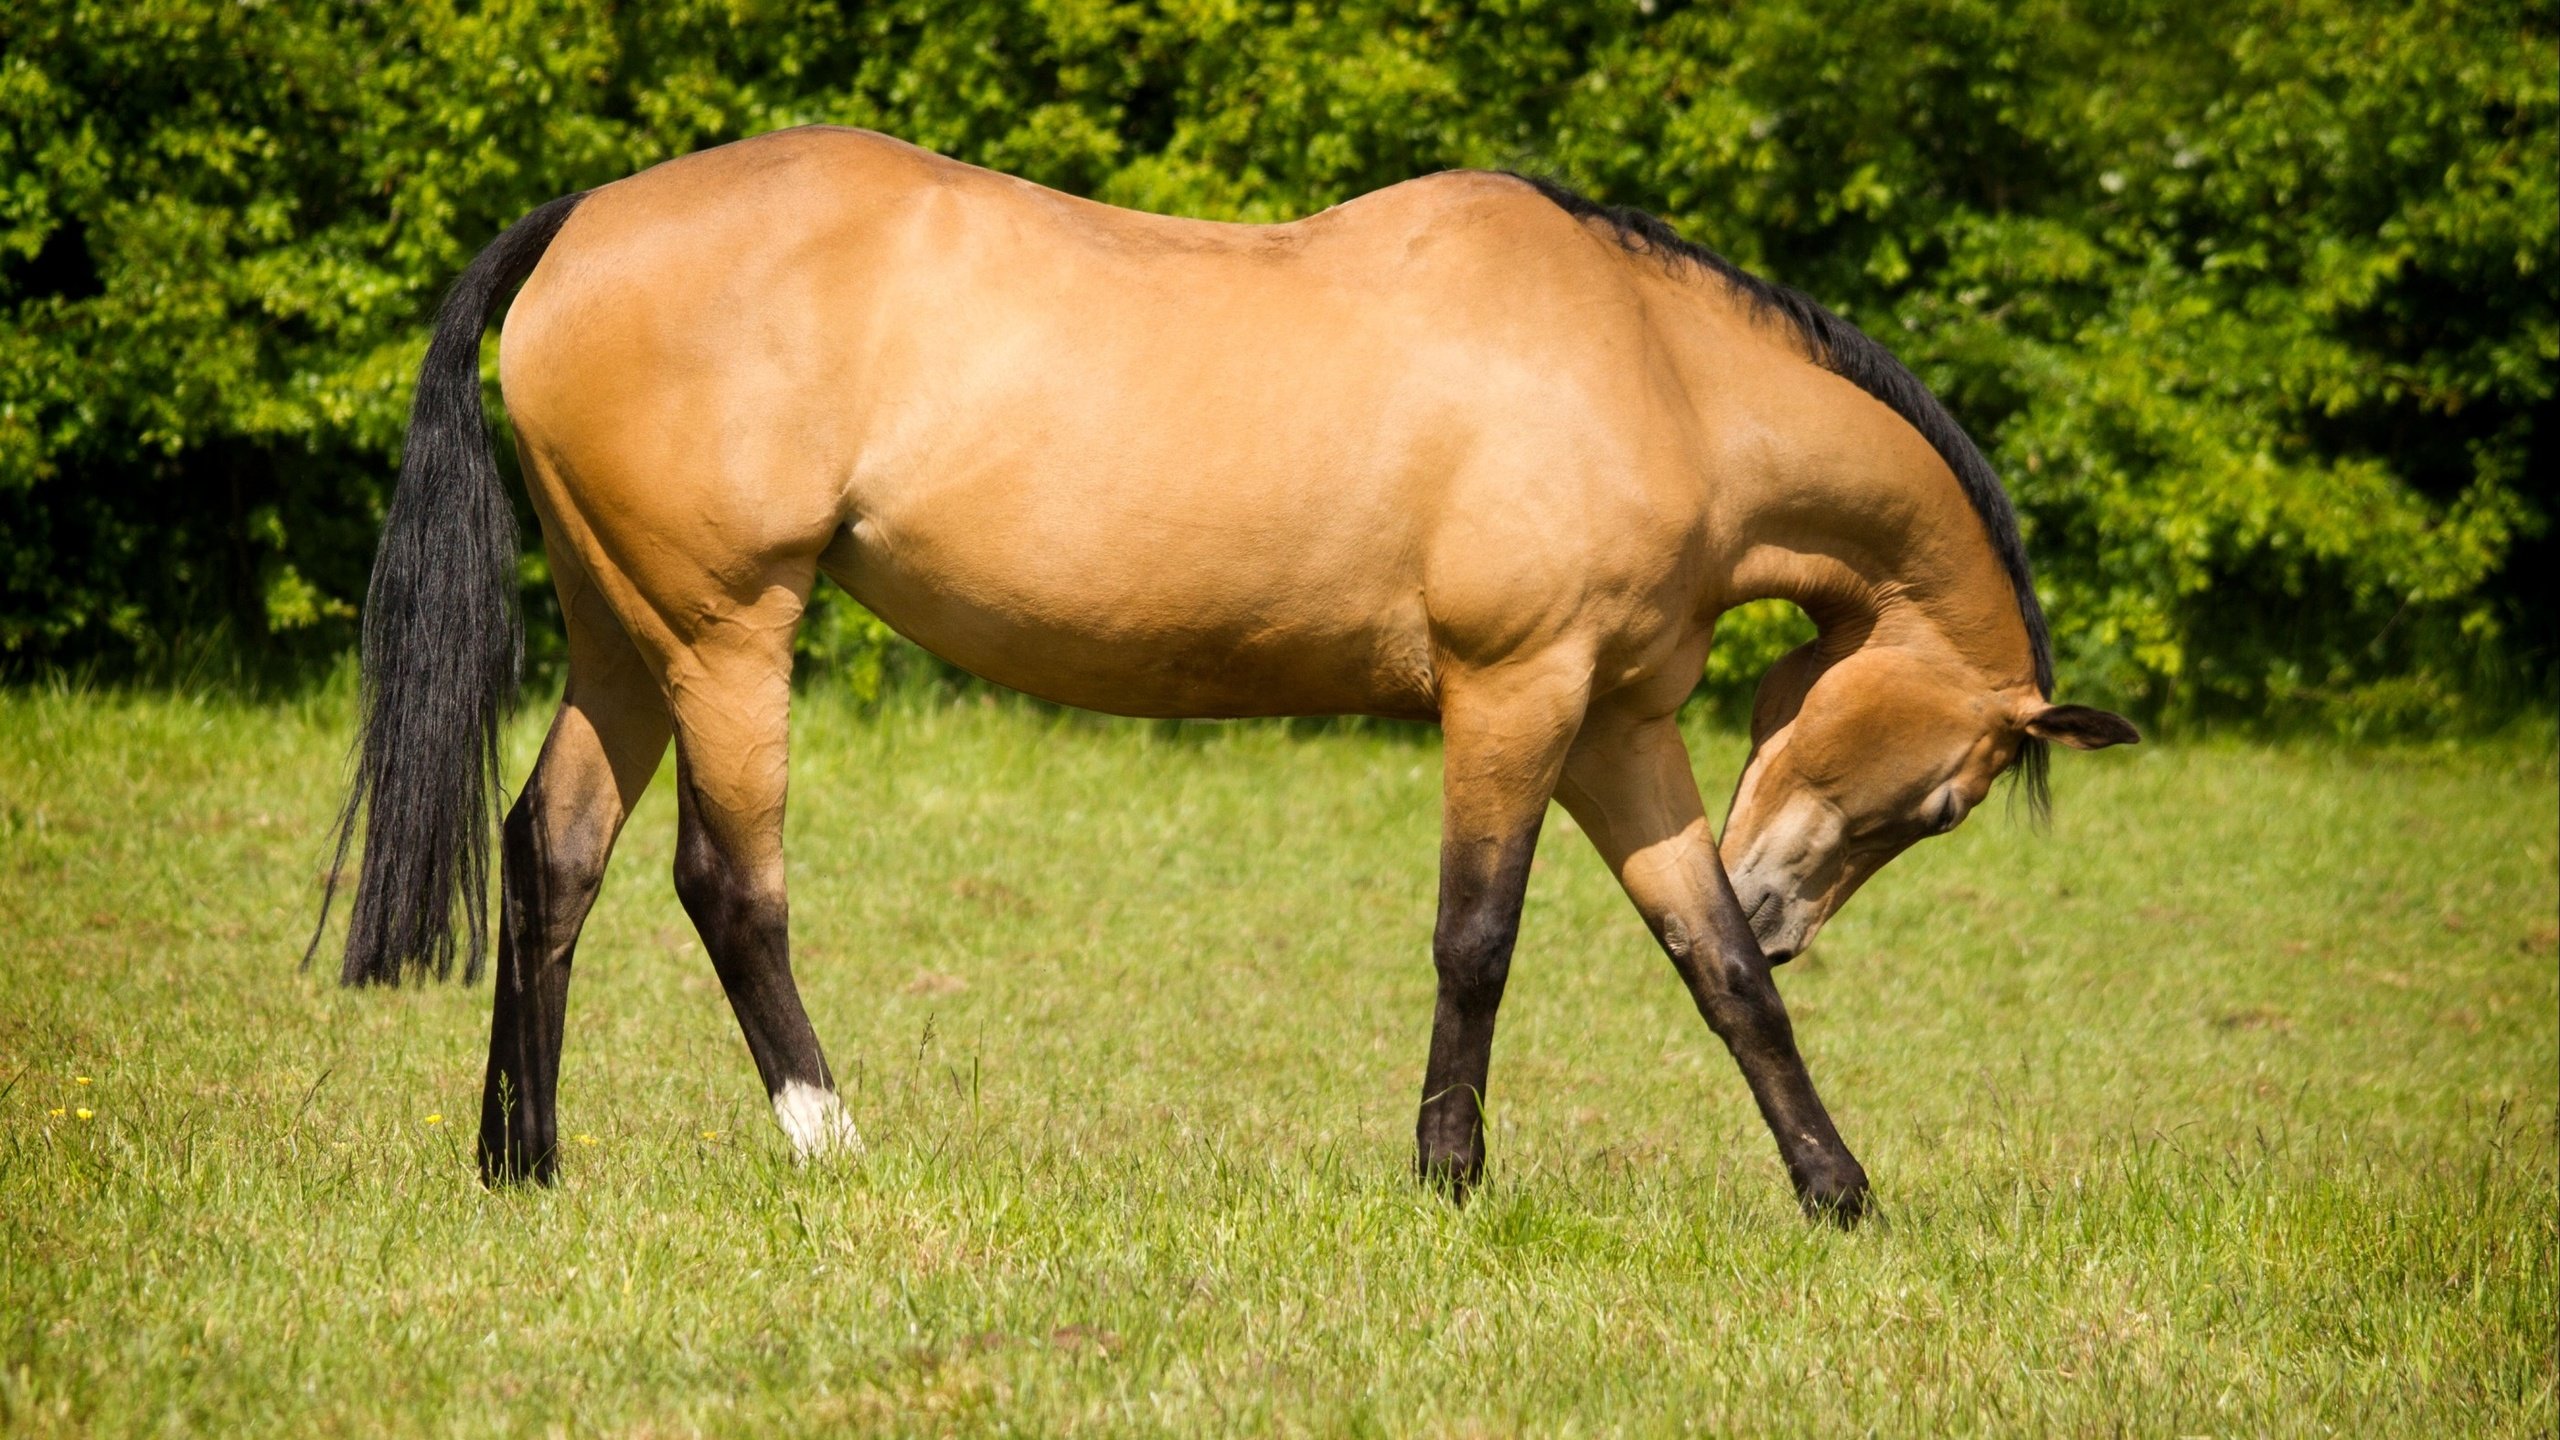
M2552 676L2555 110L2550 3L10 8L0 666L325 664L463 261L832 120L1190 215L1495 164L1661 210L1966 418L2076 694L2478 715ZM840 600L809 643L906 664Z

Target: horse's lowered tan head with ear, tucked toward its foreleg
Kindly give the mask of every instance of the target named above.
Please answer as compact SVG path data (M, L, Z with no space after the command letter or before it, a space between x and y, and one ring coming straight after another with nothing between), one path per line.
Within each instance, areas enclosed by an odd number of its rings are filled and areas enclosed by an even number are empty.
M2140 735L2122 715L1892 646L1774 664L1720 846L1769 958L1795 958L1912 840L1961 825L2002 771L2022 766L2040 797L2045 740L2099 751Z

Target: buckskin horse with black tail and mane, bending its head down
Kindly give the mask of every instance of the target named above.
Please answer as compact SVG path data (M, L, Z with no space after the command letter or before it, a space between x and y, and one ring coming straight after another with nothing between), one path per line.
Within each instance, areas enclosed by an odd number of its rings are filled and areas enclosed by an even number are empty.
M502 305L568 679L499 825L520 533L479 348ZM1772 966L1994 776L2040 807L2048 743L2138 738L2051 700L2017 518L1928 387L1651 215L1446 172L1234 225L868 131L709 149L540 205L463 269L366 594L340 979L461 953L474 981L497 830L486 1184L558 1174L579 928L671 740L676 894L773 1115L801 1156L858 1145L783 887L819 574L1057 705L1436 723L1416 1171L1457 1199L1549 799L1731 1051L1802 1209L1853 1225L1869 1179ZM1718 618L1764 597L1818 638L1759 687L1718 840L1677 712Z

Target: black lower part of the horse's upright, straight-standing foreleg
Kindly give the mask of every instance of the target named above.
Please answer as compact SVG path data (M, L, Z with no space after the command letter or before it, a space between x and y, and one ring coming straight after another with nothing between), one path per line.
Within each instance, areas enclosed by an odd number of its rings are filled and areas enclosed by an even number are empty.
M1418 1174L1464 1199L1485 1179L1485 1076L1492 1068L1492 1020L1510 979L1521 933L1521 899L1539 828L1495 846L1444 843L1439 925L1431 963L1439 999L1431 1010L1431 1061L1413 1127Z

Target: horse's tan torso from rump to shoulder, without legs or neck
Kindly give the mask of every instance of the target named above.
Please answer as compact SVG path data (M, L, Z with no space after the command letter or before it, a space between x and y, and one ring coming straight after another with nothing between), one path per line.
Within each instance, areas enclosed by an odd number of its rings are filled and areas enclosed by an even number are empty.
M1428 712L1436 656L1544 643L1641 543L1600 536L1656 400L1628 274L1492 174L1221 225L791 131L581 205L507 397L643 589L824 553L1057 700Z

